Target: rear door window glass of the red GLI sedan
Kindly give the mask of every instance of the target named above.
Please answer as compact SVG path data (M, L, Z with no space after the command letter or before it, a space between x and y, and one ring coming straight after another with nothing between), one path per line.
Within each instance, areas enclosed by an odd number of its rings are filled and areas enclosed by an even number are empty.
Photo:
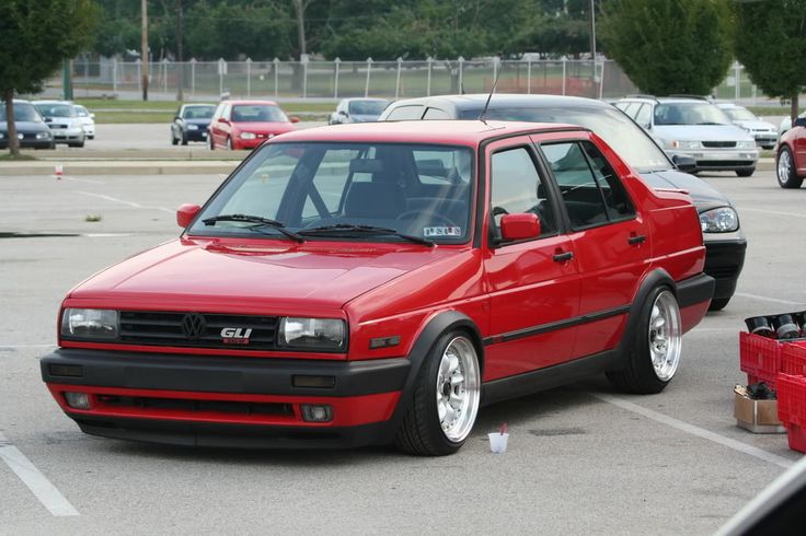
M601 152L588 141L541 145L574 230L632 218L632 202Z

